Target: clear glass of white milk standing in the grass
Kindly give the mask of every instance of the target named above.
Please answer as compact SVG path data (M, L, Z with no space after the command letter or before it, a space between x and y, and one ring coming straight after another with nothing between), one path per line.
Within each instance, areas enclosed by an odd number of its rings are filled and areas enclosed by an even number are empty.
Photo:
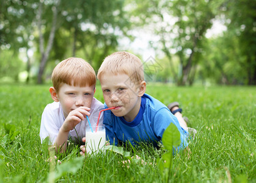
M102 151L104 149L104 146L106 144L105 126L99 125L97 127L97 132L96 127L96 125L91 127L89 125L86 125L85 138L86 152L88 154L97 154L99 151Z

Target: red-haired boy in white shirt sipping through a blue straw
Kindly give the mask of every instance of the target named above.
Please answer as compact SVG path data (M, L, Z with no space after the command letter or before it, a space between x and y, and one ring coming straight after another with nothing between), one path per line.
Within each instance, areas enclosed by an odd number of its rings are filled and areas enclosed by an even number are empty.
M52 73L53 87L50 87L53 103L48 104L42 113L41 143L50 137L50 145L56 152L64 152L67 140L81 140L85 137L89 118L91 125L97 123L102 102L94 98L96 73L89 63L80 58L69 58L58 63ZM99 124L103 123L100 118Z

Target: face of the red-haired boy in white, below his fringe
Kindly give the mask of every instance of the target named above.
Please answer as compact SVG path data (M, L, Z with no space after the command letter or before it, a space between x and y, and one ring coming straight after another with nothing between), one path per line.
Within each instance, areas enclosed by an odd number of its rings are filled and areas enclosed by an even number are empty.
M73 85L62 84L57 93L57 98L61 103L61 107L66 118L74 109L85 106L91 108L94 96L94 86L91 87L75 87Z

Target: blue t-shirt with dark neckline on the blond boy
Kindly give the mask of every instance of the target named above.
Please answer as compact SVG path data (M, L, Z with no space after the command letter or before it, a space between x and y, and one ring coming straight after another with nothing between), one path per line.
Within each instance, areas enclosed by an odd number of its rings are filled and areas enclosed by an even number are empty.
M104 107L107 108L106 104ZM186 131L179 125L177 118L162 102L148 94L141 96L140 111L134 121L127 122L123 117L116 117L111 110L104 111L104 122L106 127L106 138L110 144L118 145L118 141L127 140L136 145L137 142L152 142L157 146L157 142L162 140L162 135L170 123L175 124L181 134L181 145L179 149L184 149L188 144L186 141Z

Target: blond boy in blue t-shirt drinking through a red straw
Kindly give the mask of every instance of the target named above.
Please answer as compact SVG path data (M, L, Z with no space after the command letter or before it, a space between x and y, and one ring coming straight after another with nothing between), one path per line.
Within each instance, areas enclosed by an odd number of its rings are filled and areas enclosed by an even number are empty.
M124 51L111 54L100 66L97 78L104 95L104 107L115 107L104 112L106 136L110 144L118 145L118 142L129 140L132 145L151 142L157 146L165 129L173 123L181 138L178 151L187 147L187 124L181 109L178 105L170 105L168 109L145 93L143 64L137 56ZM181 123L170 110L182 118Z

